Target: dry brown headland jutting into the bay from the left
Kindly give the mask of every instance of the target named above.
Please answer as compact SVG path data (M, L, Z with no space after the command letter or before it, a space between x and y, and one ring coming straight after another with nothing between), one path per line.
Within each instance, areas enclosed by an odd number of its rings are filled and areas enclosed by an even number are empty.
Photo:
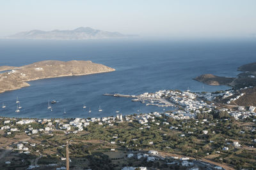
M11 70L11 71L10 71ZM71 60L44 60L22 67L0 66L0 93L8 90L17 90L28 87L28 81L61 76L81 76L86 74L106 73L115 71L111 67L96 64L92 61Z

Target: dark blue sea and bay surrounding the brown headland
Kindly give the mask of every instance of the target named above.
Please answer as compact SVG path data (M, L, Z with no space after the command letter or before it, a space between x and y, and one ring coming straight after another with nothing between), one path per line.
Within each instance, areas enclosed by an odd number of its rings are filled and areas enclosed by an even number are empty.
M30 87L0 94L0 116L63 118L105 117L163 111L131 99L102 96L104 93L141 94L163 89L199 92L228 89L192 80L212 73L236 76L237 67L256 60L255 39L240 40L0 40L0 66L22 66L40 60L92 60L116 69L112 73L30 81ZM22 109L15 113L16 97ZM56 100L53 110L47 101ZM83 103L86 110L83 110ZM99 106L102 112L99 112ZM88 113L88 108L92 113ZM63 115L63 110L66 115Z

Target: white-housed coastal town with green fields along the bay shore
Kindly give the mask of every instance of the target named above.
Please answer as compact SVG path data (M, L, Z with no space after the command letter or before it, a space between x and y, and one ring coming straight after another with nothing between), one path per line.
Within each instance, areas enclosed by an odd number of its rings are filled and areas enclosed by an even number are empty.
M239 96L243 94L234 90L160 90L128 97L173 110L101 118L2 117L0 164L6 169L66 169L68 141L73 169L252 168L255 106L214 102L236 101ZM99 159L106 164L97 164Z

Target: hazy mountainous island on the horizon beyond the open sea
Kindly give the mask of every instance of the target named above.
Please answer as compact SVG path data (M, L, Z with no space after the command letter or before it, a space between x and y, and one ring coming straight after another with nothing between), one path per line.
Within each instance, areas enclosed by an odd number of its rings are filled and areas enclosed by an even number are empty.
M129 38L134 35L125 35L119 32L108 32L90 27L79 27L74 30L53 30L40 31L32 30L26 32L19 32L7 39L56 39L56 40L81 40L81 39L108 39L108 38Z

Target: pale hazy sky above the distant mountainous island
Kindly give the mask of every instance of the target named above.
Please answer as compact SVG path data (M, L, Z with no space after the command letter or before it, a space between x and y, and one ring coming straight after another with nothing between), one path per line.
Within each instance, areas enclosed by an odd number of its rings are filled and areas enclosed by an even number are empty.
M0 0L0 36L92 27L140 36L256 34L256 0Z

